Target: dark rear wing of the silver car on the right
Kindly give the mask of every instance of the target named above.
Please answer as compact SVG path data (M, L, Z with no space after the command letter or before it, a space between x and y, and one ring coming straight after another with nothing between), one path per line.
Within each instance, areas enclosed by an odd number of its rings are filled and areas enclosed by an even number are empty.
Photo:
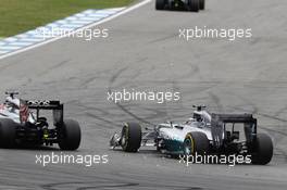
M257 118L252 114L211 114L212 138L219 149L226 140L226 124L244 124L247 141L254 139L257 135Z

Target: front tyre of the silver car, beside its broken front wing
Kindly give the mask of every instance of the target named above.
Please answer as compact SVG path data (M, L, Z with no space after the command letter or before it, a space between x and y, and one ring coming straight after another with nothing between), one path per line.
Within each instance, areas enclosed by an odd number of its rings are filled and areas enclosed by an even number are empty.
M137 123L126 123L122 129L121 145L125 152L137 152L141 143L141 127Z

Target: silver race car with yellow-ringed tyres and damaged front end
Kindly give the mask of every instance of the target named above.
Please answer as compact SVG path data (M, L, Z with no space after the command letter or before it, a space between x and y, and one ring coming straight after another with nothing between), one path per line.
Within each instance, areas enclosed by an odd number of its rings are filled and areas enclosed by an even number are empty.
M137 123L126 123L121 132L112 136L110 147L137 152L140 147L151 145L173 156L250 155L251 162L260 165L272 160L272 139L257 132L257 118L251 114L214 114L203 105L195 107L194 116L188 121L159 124L147 131L142 131Z

